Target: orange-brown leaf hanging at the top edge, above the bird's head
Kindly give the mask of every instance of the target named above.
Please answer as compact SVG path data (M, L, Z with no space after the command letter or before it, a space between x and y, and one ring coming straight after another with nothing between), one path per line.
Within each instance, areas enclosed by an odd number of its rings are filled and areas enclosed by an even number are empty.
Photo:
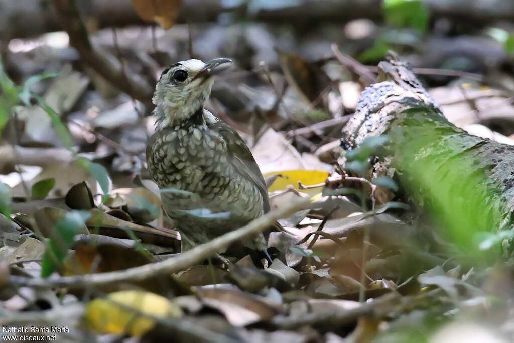
M180 0L133 0L132 4L142 20L156 22L164 30L173 26L180 8Z

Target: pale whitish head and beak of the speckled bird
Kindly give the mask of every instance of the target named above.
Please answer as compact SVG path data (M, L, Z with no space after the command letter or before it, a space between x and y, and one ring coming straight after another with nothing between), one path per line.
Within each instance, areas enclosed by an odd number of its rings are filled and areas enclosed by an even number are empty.
M213 76L230 65L231 59L218 58L206 63L181 61L164 69L152 98L158 119L176 125L202 110L211 93Z

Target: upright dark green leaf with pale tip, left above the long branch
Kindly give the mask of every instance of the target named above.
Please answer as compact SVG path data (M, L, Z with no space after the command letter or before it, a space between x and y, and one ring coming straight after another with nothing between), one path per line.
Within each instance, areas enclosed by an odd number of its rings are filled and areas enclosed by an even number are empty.
M90 216L91 213L87 211L70 211L57 222L43 254L41 277L50 276L61 266L79 228L85 225Z

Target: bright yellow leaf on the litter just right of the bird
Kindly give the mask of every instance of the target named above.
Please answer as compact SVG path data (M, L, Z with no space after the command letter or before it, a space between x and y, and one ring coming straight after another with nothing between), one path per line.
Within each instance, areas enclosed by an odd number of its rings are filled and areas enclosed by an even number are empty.
M268 191L270 192L285 190L289 185L292 185L295 189L299 189L298 182L301 182L304 186L321 184L324 183L328 177L328 173L323 170L286 170L266 173L264 176L269 175L280 175L274 180L271 186L268 187ZM316 192L319 192L320 189L321 188L317 189Z

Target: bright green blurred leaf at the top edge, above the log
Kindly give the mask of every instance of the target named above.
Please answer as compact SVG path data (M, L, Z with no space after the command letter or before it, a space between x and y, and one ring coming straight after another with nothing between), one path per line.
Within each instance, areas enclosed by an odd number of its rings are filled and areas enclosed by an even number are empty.
M427 30L429 13L420 0L384 0L382 8L386 21L393 26Z

